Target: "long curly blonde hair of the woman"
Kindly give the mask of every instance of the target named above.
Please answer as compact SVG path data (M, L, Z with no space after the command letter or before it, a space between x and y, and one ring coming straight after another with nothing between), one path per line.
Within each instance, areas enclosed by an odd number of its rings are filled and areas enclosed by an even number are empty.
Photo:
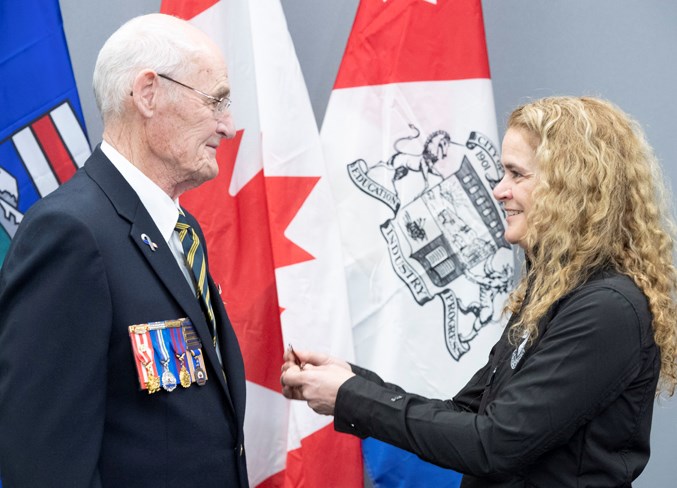
M523 239L529 268L507 309L528 333L559 298L606 266L631 277L649 301L661 354L658 393L677 384L675 225L660 165L639 124L612 103L551 97L517 108L508 129L535 145L537 182ZM520 311L529 287L529 299Z

